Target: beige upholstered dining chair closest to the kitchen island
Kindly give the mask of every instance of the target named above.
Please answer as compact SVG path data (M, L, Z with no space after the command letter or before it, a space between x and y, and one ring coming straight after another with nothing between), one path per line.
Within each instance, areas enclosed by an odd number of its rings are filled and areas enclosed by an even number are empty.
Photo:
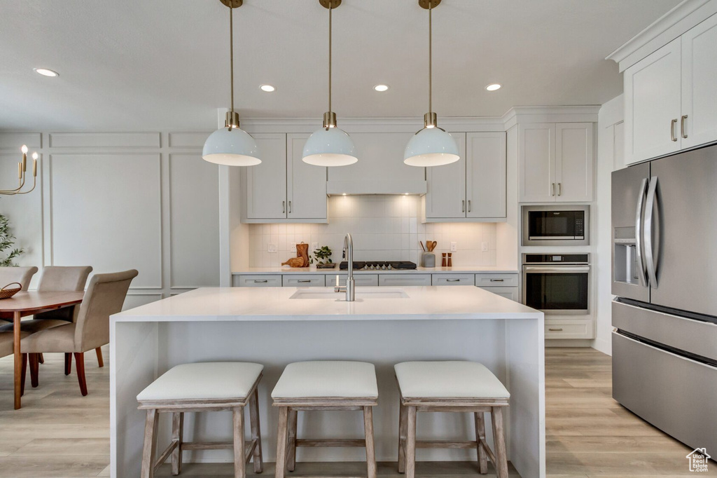
M85 380L85 352L110 342L110 315L122 310L132 279L138 272L130 271L95 274L90 279L85 297L80 304L77 321L29 334L20 341L20 351L29 354L30 375L33 385L38 382L38 355L44 352L65 354L65 375L75 355L75 370L82 395L87 395ZM42 321L38 321L42 322ZM23 359L25 360L25 359ZM24 385L23 385L24 386Z

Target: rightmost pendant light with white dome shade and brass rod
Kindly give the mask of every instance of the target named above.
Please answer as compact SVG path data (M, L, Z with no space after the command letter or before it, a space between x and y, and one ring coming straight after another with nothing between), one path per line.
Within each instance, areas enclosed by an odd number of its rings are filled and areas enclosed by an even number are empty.
M438 127L432 109L432 11L440 3L441 0L418 0L419 6L428 10L428 113L423 116L423 129L406 145L404 163L409 166L442 166L460 159L455 140L445 129Z

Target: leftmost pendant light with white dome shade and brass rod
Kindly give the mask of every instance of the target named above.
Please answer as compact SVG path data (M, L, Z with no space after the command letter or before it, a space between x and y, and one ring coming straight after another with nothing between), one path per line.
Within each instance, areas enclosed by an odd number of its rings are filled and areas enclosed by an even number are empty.
M234 9L243 0L220 0L229 7L229 67L231 69L232 109L227 111L224 128L214 131L204 142L201 157L204 161L226 166L255 166L259 159L259 146L252 135L239 128L239 113L234 111Z

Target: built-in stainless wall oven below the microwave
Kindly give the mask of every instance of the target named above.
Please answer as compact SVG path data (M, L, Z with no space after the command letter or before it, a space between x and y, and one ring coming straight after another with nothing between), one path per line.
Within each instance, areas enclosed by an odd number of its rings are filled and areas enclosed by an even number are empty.
M545 314L589 314L590 255L523 254L523 304Z

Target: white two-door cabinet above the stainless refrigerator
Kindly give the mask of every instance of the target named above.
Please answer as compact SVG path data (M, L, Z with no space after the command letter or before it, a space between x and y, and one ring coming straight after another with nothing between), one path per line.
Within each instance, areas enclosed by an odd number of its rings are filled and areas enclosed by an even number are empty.
M625 70L625 163L717 140L717 15Z

